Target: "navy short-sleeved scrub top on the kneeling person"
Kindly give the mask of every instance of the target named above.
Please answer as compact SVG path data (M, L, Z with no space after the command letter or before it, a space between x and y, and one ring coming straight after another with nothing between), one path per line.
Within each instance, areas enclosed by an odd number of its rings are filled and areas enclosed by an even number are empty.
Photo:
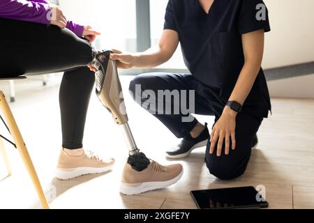
M224 102L230 98L244 66L241 34L270 31L266 6L266 20L257 20L260 3L264 5L262 0L214 0L208 14L198 0L169 0L167 4L164 29L179 34L186 67L195 79L219 89ZM262 68L243 109L261 118L271 110Z

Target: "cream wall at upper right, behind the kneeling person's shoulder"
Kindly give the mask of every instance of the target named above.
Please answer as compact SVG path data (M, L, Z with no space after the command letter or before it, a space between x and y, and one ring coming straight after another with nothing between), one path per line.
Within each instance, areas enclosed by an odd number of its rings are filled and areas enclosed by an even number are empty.
M266 34L264 68L314 61L314 1L264 0L271 32Z

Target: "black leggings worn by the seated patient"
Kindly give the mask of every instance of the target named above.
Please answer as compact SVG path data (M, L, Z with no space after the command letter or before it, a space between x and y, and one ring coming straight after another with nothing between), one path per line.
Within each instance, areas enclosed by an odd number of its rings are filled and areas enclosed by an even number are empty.
M0 77L65 71L60 86L62 146L81 148L95 76L94 50L68 29L0 18Z

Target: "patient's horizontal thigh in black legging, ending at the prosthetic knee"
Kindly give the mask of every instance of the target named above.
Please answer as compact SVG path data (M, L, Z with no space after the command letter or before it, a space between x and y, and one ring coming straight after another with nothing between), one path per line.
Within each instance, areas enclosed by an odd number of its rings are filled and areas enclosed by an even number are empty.
M43 74L86 66L94 49L68 29L0 18L1 77Z

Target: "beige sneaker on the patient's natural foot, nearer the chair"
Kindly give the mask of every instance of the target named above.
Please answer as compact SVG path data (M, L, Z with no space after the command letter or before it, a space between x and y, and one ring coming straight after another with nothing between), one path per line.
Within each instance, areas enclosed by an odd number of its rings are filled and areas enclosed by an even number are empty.
M85 152L82 148L70 150L61 149L56 177L68 180L86 174L100 174L110 171L114 165L114 159L100 160L91 151Z

